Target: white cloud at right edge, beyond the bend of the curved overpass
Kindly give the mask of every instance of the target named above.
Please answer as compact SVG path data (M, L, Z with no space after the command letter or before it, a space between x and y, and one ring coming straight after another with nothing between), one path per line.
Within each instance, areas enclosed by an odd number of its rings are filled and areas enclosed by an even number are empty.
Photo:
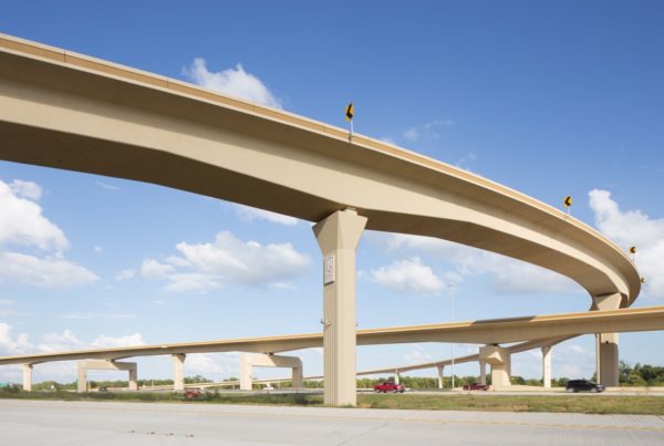
M623 249L636 247L635 262L645 278L649 298L664 298L664 218L651 218L641 210L621 210L608 190L593 189L590 208L598 229Z

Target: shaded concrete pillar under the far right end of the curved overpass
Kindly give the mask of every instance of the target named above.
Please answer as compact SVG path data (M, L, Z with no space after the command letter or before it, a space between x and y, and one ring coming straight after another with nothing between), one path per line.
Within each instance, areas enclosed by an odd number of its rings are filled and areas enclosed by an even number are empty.
M622 302L622 294L606 294L593 297L591 310L618 310ZM596 378L600 384L606 387L618 387L620 385L618 365L618 333L598 333L596 343Z

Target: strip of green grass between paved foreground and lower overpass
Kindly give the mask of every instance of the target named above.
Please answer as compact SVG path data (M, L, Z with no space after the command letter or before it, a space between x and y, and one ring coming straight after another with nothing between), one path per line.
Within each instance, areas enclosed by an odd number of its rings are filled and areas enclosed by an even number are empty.
M176 393L87 393L20 392L0 390L0 398L58 400L58 401L123 401L123 402L183 402ZM322 406L322 395L305 394L215 394L208 393L188 404L276 404ZM572 395L357 395L357 407L434 409L434 411L490 411L490 412L558 412L583 414L664 415L662 396L572 396Z

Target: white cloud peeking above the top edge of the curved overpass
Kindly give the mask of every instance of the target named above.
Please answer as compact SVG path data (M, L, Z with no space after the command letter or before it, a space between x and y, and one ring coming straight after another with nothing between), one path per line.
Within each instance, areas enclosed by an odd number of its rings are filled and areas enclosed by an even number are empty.
M281 108L281 102L253 74L247 73L241 64L235 69L210 72L201 58L196 58L188 69L184 70L198 85L215 90L229 96L241 97L257 104Z

